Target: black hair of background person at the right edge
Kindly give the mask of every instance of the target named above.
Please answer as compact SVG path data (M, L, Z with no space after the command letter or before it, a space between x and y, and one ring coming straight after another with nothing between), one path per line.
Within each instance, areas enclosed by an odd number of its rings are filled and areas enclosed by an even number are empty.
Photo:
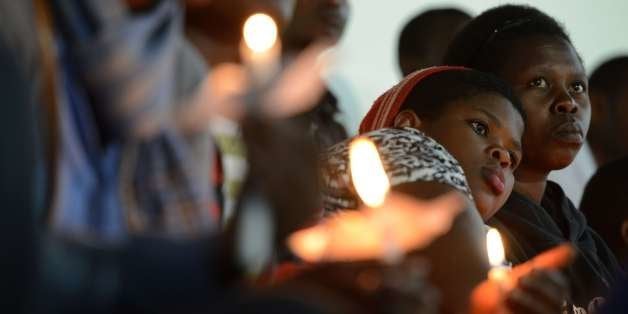
M612 98L628 82L628 56L617 56L598 66L589 78L589 90Z

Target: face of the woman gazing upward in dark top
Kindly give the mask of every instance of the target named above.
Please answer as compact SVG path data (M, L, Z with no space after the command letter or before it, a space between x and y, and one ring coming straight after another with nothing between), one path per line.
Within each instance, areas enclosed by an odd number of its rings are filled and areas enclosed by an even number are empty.
M498 73L509 82L527 115L519 173L548 173L568 166L589 128L587 77L574 48L547 36L514 41Z

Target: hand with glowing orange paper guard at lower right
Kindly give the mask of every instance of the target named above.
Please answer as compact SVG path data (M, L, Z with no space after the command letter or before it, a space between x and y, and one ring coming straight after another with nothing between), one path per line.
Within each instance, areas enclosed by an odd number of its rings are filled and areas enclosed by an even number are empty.
M558 269L571 263L574 249L563 244L515 267L504 282L486 280L471 294L471 313L560 313L567 283Z

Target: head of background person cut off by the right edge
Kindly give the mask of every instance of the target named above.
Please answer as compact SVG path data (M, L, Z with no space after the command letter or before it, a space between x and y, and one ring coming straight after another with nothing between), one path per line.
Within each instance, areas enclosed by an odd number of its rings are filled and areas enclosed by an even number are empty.
M628 155L628 56L598 66L589 78L591 127L587 135L598 165Z

